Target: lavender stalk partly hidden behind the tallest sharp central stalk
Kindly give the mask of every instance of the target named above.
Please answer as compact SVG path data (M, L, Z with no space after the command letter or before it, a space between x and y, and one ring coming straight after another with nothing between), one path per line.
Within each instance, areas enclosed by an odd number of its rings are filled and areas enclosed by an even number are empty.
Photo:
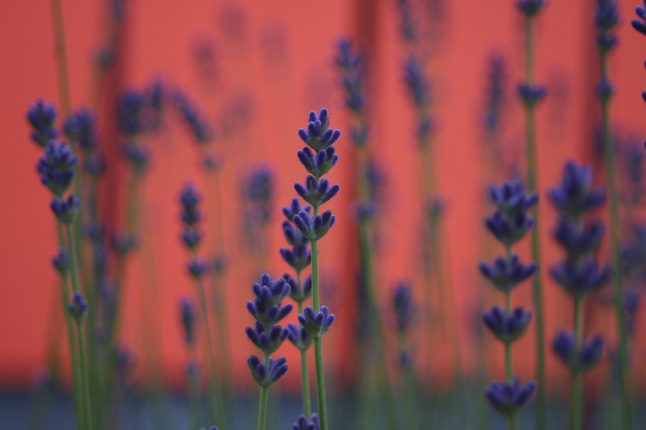
M287 244L290 248L282 247L280 255L288 265L294 269L296 278L289 274L284 274L283 278L289 284L289 296L297 303L298 313L303 313L303 303L311 296L312 293L312 278L311 276L302 282L301 272L308 267L312 261L312 255L307 245L309 241L293 224L293 218L301 211L305 210L309 213L311 207L306 205L301 207L297 198L291 201L289 207L283 207L283 214L287 221L283 221L282 229ZM300 323L299 323L300 324ZM303 413L306 416L311 415L312 406L309 393L309 371L307 370L307 350L312 344L312 336L307 333L307 330L302 325L297 326L294 323L287 325L289 329L289 342L293 343L300 351L300 382L301 382L301 396L303 401Z

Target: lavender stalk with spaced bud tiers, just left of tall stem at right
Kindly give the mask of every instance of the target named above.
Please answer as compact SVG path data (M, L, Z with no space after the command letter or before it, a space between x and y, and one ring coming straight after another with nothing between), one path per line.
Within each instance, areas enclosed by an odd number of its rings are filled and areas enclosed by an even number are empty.
M485 219L487 229L506 248L505 257L497 257L494 263L479 264L480 272L494 287L505 293L505 308L494 305L483 314L486 327L505 345L505 382L494 380L486 390L492 406L505 415L510 430L517 429L516 413L536 389L534 381L520 385L512 369L512 343L525 333L532 320L532 312L516 307L512 311L512 291L536 272L536 263L521 263L512 252L515 243L525 237L534 227L534 217L527 212L538 201L536 192L527 194L523 182L508 181L500 187L489 187L488 199L497 210Z

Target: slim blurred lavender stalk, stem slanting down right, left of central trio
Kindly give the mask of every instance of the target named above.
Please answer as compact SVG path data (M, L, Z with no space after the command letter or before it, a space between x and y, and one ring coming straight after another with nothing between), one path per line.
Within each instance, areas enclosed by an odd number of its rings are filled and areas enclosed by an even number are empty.
M183 187L180 193L180 204L182 205L182 241L184 245L191 252L191 260L187 265L189 274L193 277L198 290L198 300L200 302L200 309L202 311L202 319L204 323L204 336L206 338L206 353L209 362L209 394L211 396L211 406L215 414L215 422L224 427L227 423L224 400L222 397L222 385L220 384L220 373L216 363L216 351L213 346L213 332L211 331L211 322L209 320L209 306L207 303L207 294L203 278L207 271L211 268L209 263L202 260L198 256L198 246L202 240L202 232L200 231L200 221L202 220L202 212L200 212L199 204L202 200L198 190L192 185L187 184Z

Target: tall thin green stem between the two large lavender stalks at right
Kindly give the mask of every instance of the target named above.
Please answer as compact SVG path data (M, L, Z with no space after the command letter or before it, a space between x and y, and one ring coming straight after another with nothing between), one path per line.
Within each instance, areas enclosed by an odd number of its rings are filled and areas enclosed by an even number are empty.
M525 81L528 84L534 79L534 37L533 19L525 21ZM534 192L538 185L538 166L536 155L536 116L534 107L526 107L526 153L527 153L527 188ZM534 311L536 311L536 379L538 391L536 396L536 428L545 430L547 416L547 398L545 391L545 324L543 316L543 292L541 287L541 245L539 237L538 205L532 208L534 229L532 229L532 259L539 270L534 274L532 289Z

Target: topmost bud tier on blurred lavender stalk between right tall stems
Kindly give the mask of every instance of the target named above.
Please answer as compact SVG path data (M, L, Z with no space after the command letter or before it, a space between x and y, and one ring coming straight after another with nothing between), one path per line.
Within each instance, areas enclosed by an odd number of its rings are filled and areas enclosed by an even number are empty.
M568 161L563 169L561 185L550 190L552 204L559 212L574 218L597 209L605 203L605 191L594 189L593 179L592 169Z

